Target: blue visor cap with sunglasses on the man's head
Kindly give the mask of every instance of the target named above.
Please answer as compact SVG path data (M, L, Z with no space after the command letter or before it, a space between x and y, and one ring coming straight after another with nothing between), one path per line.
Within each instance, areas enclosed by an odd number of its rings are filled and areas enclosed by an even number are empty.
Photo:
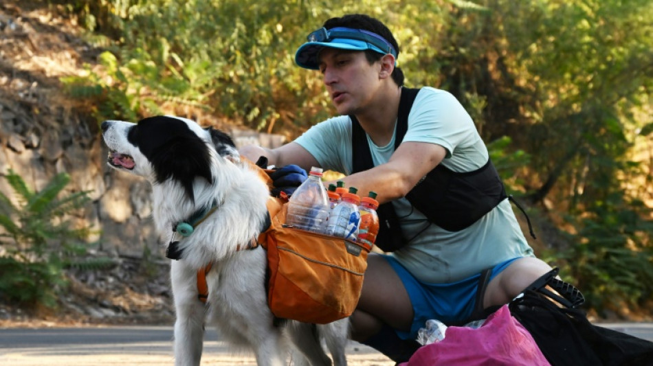
M392 54L397 58L397 51L385 38L374 32L346 27L327 30L320 28L307 37L308 42L301 45L295 54L295 62L305 69L318 70L318 55L324 47L365 51L371 49L379 54Z

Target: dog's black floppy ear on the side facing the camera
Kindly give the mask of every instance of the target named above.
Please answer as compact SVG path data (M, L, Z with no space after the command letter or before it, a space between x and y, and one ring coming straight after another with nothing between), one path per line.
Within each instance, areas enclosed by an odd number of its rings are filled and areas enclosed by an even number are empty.
M213 183L211 172L211 157L209 147L197 135L184 135L170 139L167 144L160 146L153 154L152 163L155 165L157 182L168 179L178 181L195 201L192 192L192 183L195 178L201 177L208 183Z

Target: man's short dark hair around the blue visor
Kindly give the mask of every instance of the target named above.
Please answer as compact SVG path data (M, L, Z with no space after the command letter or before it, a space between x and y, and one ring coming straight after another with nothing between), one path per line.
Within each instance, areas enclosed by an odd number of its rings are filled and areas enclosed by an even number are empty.
M386 41L390 42L392 47L395 47L397 50L397 58L399 58L399 45L397 45L395 36L392 36L392 32L390 32L384 23L381 23L381 21L372 18L371 16L365 14L346 14L340 18L331 18L325 21L323 26L327 28L327 30L335 27L348 27L374 32L379 36L386 38ZM365 56L371 64L380 60L384 55L368 49L365 51ZM395 80L395 83L397 83L399 87L403 86L403 71L401 71L399 67L395 67L391 76L392 80Z

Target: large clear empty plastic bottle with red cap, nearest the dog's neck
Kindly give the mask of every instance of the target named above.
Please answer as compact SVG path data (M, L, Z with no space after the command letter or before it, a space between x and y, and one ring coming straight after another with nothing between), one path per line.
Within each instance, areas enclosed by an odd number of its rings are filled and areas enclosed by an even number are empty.
M308 179L290 196L286 225L324 233L329 211L327 190L322 185L322 169L313 167Z

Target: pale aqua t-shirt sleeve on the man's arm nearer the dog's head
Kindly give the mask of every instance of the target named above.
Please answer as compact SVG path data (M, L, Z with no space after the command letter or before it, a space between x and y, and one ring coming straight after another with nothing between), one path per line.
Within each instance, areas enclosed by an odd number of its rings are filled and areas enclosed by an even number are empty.
M320 122L295 142L313 155L322 169L351 173L351 121L348 116Z

